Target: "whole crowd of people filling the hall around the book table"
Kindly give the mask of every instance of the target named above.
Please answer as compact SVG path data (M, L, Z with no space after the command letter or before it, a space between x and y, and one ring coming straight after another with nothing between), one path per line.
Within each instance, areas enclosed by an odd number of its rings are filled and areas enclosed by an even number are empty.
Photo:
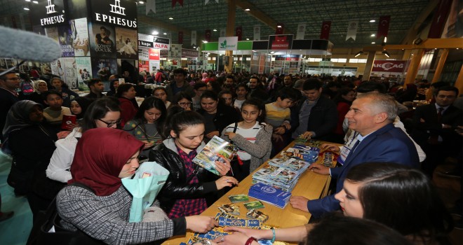
M139 106L135 86L119 84L115 75L107 94L94 78L82 97L59 77L21 77L15 71L0 76L1 143L13 156L8 184L27 197L34 219L56 197L65 229L107 244L146 243L187 229L206 232L217 223L199 214L302 137L343 145L321 145L339 155L337 167L309 167L333 178L333 195L290 198L293 208L321 222L278 230L226 228L233 234L210 244L257 244L253 238L319 244L327 226L355 233L342 223L372 230L368 239L350 238L358 244L446 244L453 227L431 183L437 165L449 157L457 168L441 174L462 174L462 97L450 84L422 81L399 90L384 80L349 76L160 69L133 79L159 85ZM25 82L34 92L22 91ZM426 99L420 98L424 90L434 94L429 104L409 106ZM76 120L63 120L68 115ZM239 161L215 162L218 176L192 162L213 137L239 149ZM25 142L34 144L26 151ZM133 224L132 197L121 179L133 176L146 158L170 172L154 203L166 215ZM461 216L461 198L456 207ZM0 221L12 215L0 212ZM461 220L456 224L461 228Z

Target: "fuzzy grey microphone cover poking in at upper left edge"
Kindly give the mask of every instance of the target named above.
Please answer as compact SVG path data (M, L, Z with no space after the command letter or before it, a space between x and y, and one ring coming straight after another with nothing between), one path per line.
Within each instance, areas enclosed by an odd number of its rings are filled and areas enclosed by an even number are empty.
M52 62L61 57L61 48L46 36L0 26L0 57Z

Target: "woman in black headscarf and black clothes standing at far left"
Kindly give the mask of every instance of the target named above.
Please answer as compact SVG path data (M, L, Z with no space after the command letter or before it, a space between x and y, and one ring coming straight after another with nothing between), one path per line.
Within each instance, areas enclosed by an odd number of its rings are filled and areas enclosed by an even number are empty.
M53 182L44 181L47 180L45 169L55 151L57 136L49 125L42 122L42 106L22 100L8 111L3 131L6 140L2 150L13 156L8 184L15 188L17 195L27 195L34 216L48 207L60 188L43 186L53 185Z

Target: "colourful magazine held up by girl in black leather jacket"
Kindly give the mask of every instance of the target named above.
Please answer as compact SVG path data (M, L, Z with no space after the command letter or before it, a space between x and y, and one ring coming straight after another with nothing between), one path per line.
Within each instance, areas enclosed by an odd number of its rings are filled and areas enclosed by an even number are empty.
M193 159L193 162L212 172L213 174L220 175L220 173L215 168L215 161L223 161L219 155L222 155L227 159L233 158L234 154L236 153L234 149L235 146L233 144L230 144L228 141L215 136L210 139L209 143L204 146L203 150L201 150L201 152L196 155L196 157Z

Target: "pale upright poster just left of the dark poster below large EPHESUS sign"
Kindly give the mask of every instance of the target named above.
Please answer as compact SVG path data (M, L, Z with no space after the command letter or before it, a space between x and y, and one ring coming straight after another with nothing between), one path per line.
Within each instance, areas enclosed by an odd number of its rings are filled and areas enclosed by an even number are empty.
M87 18L70 20L72 34L74 35L74 48L75 56L90 56L89 40L88 40L88 25Z

